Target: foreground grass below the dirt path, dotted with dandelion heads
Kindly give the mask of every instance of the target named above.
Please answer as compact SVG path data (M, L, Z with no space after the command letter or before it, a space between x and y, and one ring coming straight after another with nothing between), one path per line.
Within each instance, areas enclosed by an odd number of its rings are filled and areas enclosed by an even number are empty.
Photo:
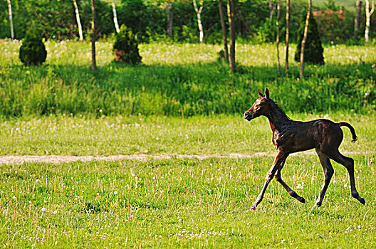
M313 155L291 157L283 179L304 205L272 181L256 211L272 157L203 161L23 164L0 170L0 243L7 248L374 248L375 159L357 155L357 189L335 176L323 206L310 213L323 182Z

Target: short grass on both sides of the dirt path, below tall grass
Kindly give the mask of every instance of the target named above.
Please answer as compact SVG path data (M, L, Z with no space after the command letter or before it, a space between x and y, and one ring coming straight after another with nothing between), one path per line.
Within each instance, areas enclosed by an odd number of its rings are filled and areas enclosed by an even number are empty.
M296 115L311 120L318 115ZM315 154L291 156L283 179L306 204L272 181L251 204L273 162L265 118L46 117L1 123L1 154L150 154L145 160L0 164L0 241L4 248L373 248L376 241L375 117L351 122L340 150L355 159L362 206L348 173L335 175L323 206ZM155 154L268 154L247 159L152 159ZM350 153L351 152L351 153Z

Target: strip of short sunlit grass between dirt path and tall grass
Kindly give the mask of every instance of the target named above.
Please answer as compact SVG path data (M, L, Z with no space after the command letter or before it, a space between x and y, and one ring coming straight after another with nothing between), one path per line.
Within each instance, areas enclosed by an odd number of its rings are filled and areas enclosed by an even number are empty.
M350 122L359 140L343 127L340 149L375 152L374 115L290 115L295 120L328 118ZM268 120L219 117L85 117L51 116L0 122L0 154L254 154L275 152Z

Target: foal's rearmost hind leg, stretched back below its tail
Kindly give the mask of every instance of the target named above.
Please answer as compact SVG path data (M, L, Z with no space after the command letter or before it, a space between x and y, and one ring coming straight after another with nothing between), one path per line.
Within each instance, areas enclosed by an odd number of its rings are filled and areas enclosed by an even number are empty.
M350 176L350 184L351 184L351 195L352 197L356 198L357 201L365 204L365 199L360 197L360 195L357 193L356 187L355 187L355 176L354 176L354 159L350 157L345 157L343 154L340 154L338 150L334 152L325 153L330 159L333 159L334 161L337 161L339 164L342 164L345 166L345 168L348 170L348 174Z

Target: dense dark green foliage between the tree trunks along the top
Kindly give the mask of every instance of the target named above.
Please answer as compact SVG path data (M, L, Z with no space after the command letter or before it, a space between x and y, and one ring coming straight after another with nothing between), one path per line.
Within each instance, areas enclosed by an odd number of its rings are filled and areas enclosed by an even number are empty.
M236 4L236 33L241 38L262 43L275 41L276 11L270 20L268 0L238 1ZM352 43L355 9L350 11L332 4L314 6L313 14L318 21L321 39L324 43ZM45 38L77 38L78 28L71 0L11 0L15 36L25 36L28 26L38 28ZM90 1L77 0L84 36L89 38L91 7ZM110 1L96 0L96 27L100 37L112 36L115 32L113 11ZM167 35L167 1L122 0L117 1L117 18L121 24L132 28L139 41L184 41L197 42L199 36L197 16L192 1L172 1L173 35ZM285 2L281 1L281 33L285 31ZM291 2L291 41L298 40L299 16L307 7L306 1ZM330 12L331 11L331 12ZM359 38L364 33L364 8L360 21ZM225 15L226 18L226 15ZM204 42L221 42L217 1L204 1L202 24ZM10 36L8 6L0 1L0 38ZM372 16L371 32L375 32L376 18ZM330 30L330 32L328 32ZM371 36L372 37L372 36ZM283 41L284 36L281 36ZM357 41L357 39L355 41Z

